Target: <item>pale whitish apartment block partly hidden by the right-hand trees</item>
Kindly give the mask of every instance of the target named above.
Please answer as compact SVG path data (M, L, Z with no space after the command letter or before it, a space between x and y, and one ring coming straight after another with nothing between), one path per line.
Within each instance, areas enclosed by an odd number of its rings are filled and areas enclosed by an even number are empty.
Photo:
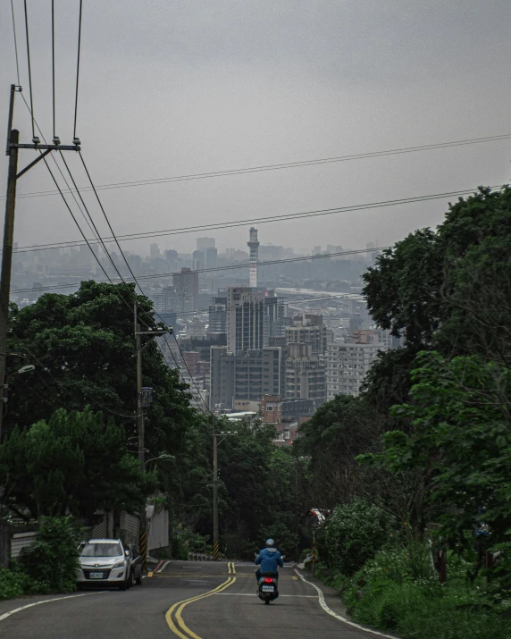
M364 377L384 344L330 343L326 353L326 399L357 395Z

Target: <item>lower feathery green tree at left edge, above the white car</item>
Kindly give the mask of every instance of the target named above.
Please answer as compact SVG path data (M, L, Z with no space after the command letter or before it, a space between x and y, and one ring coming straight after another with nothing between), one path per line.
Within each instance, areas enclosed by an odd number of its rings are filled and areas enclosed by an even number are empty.
M0 446L4 503L32 517L70 512L91 517L96 509L137 511L152 485L151 475L126 450L124 429L90 408L57 410Z

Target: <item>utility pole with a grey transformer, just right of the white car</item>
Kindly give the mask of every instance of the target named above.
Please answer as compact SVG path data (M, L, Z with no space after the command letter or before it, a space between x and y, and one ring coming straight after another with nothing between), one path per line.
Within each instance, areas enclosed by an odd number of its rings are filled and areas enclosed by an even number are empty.
M138 324L138 306L137 299L133 305L133 324L135 329L135 348L137 349L137 436L138 436L138 462L140 469L145 472L146 469L146 449L145 449L145 433L144 433L144 407L149 402L144 401L144 387L142 386L142 351L146 348L150 341L142 346L142 335L150 335L151 338L160 337L166 333L172 334L172 328L167 327L164 330L155 329L155 331L141 331ZM151 390L151 389L149 389ZM147 517L146 508L140 511L140 530L138 532L138 546L142 557L142 570L147 569Z

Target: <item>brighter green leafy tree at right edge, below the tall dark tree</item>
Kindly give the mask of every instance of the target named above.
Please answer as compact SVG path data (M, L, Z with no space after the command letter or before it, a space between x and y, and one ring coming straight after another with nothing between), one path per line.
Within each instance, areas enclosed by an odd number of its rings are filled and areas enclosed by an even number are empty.
M394 474L431 476L429 499L452 544L488 526L487 545L511 531L511 373L481 357L446 360L423 352L412 373L413 401L393 408L413 431L384 435L385 450L364 460Z

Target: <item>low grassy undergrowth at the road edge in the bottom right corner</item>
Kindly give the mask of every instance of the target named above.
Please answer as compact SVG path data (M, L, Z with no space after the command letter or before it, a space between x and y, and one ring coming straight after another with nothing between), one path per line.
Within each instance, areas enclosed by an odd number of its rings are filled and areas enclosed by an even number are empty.
M505 607L467 587L467 566L470 561L449 556L450 578L440 584L427 545L386 548L345 580L344 599L359 623L405 639L507 639Z

